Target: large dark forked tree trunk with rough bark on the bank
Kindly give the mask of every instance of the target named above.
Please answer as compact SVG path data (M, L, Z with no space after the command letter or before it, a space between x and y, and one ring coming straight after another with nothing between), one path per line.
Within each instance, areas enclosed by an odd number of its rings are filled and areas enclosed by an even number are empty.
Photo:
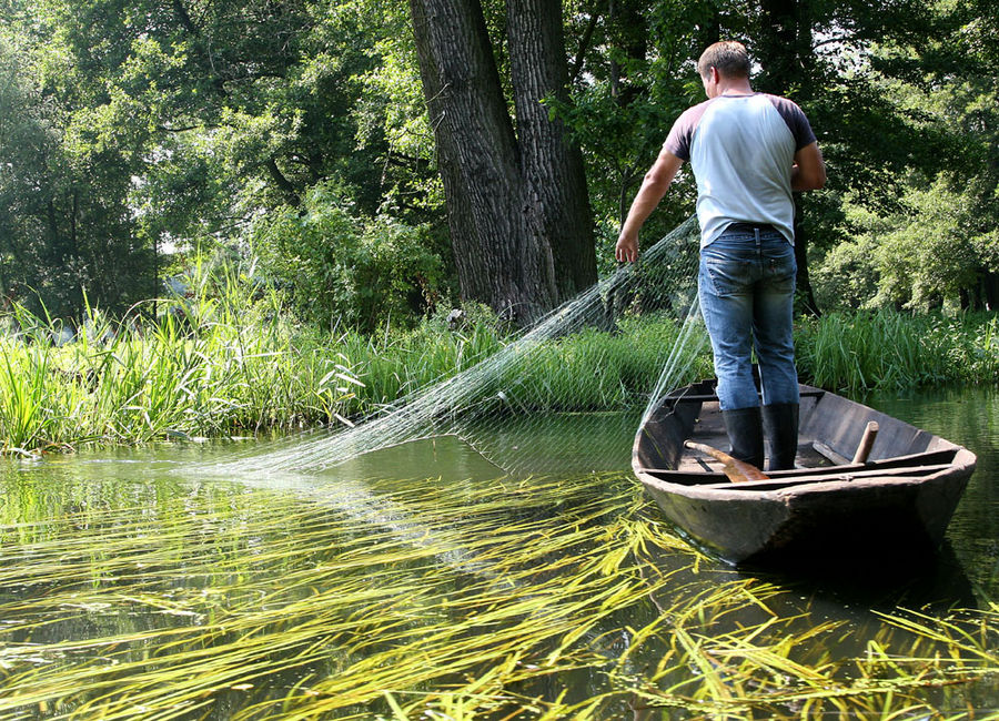
M548 6L511 0L518 143L477 0L410 0L462 296L525 324L596 280L582 159L538 102L566 74Z

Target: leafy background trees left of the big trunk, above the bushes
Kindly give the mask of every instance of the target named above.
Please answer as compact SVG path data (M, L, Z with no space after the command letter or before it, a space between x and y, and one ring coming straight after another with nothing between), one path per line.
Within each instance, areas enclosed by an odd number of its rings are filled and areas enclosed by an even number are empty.
M24 299L30 286L54 314L78 315L87 288L122 311L161 292L164 246L238 243L261 215L305 212L313 189L336 186L352 213L379 215L397 177L427 172L389 164L371 119L357 141L363 78L393 31L381 21L407 22L382 6L2 3L2 34L17 41L0 53L4 78L17 75L0 128L0 160L17 169L0 176L4 292ZM392 210L427 221L418 203ZM440 235L424 231L421 242Z

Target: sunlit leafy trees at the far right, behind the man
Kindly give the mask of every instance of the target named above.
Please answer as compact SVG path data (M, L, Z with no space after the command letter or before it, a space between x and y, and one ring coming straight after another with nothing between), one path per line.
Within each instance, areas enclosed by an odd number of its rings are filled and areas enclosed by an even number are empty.
M890 204L845 196L842 227L858 241L834 248L820 272L839 299L844 258L875 278L874 292L854 295L851 306L999 308L999 54L990 41L999 28L986 6L930 6L935 32L871 45L879 102L924 142L901 144L917 158L888 185Z

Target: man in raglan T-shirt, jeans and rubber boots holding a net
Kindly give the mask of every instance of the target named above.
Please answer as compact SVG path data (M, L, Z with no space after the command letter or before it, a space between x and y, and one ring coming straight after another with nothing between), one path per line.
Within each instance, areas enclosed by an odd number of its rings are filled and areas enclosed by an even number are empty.
M741 43L717 42L704 51L697 71L708 100L677 119L635 196L615 254L637 260L638 231L689 161L700 222L698 295L731 455L761 468L766 425L769 468L779 470L794 467L798 438L791 192L821 187L826 169L805 113L785 98L755 93L749 68Z

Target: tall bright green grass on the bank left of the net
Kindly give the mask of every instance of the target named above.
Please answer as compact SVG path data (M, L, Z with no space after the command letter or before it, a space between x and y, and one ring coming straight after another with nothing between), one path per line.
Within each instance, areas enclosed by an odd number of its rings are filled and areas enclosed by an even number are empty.
M502 347L498 324L376 336L302 325L246 275L198 265L190 297L121 319L91 308L69 343L23 307L0 318L0 453L350 423Z

